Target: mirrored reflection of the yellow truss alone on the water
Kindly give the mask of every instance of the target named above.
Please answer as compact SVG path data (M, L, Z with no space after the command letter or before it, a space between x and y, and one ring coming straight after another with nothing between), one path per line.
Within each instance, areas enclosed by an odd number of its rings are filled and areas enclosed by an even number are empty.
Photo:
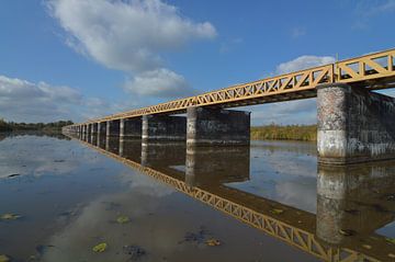
M74 138L74 137L71 137ZM198 186L189 186L185 182L176 179L171 175L168 175L161 171L155 170L153 168L144 167L140 163L137 163L131 159L120 157L116 153L106 151L100 147L91 145L87 141L80 140L82 144L88 147L98 150L99 152L108 156L112 159L115 159L137 171L149 175L156 180L159 180L176 190L212 206L213 208L221 210L236 219L252 226L263 232L278 238L285 243L295 247L306 253L309 253L323 261L328 262L350 262L350 261L366 261L366 262L379 262L386 261L391 259L387 257L388 250L392 250L388 247L388 243L385 239L379 235L374 235L369 238L368 243L359 242L361 247L356 250L353 248L345 247L332 247L317 239L315 236L314 227L308 227L308 229L303 228L303 224L298 224L297 220L302 219L298 216L298 219L294 219L295 224L292 221L283 220L282 216L274 216L262 213L261 210L256 209L255 207L248 207L240 202L234 201L218 194L213 193L210 189L201 189ZM301 210L301 213L305 213ZM311 214L311 216L315 216ZM315 220L315 219L313 219ZM363 248L363 246L369 246L370 249Z

